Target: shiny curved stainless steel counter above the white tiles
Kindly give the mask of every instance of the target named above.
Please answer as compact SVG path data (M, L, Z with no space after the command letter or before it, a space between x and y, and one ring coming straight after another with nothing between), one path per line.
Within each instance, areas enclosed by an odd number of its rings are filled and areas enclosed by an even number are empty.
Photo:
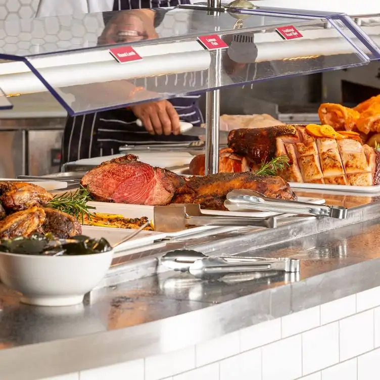
M187 242L216 254L300 258L299 276L207 282L165 271L100 288L83 305L68 308L25 306L19 295L0 287L0 378L33 380L178 350L380 286L380 204L350 211L346 226L306 218L275 234L251 230ZM183 244L146 252L159 255ZM120 267L138 270L147 260L160 272L157 257L147 254L133 265L116 262L114 274L125 273Z

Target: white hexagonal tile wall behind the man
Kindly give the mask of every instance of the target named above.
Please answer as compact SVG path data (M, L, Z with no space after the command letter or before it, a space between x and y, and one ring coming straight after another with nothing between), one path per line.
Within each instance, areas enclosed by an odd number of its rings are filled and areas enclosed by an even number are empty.
M35 17L39 3L40 0L0 0L1 53L18 51L19 54L28 55L67 49L69 46L79 48L97 44L98 36L104 29L101 13L28 20ZM188 25L187 14L167 14L156 30L161 37L167 37L173 32L186 32Z

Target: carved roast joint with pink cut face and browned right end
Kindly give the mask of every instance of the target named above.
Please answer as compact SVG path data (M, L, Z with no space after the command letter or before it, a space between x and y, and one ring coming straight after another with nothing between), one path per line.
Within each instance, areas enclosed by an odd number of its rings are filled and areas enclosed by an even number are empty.
M241 172L185 178L139 162L131 154L89 170L81 184L94 200L151 206L196 203L207 209L225 210L224 200L234 189L254 189L268 197L296 199L288 183L277 176Z

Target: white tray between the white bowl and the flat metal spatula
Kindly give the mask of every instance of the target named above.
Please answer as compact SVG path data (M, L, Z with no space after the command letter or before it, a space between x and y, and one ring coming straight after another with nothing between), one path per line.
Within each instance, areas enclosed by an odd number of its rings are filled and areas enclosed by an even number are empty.
M97 226L82 226L82 234L100 239L104 237L111 245L120 242L128 234L133 233L134 229L126 228L112 228L112 227L97 227ZM120 246L115 248L115 253L129 250L137 247L144 247L159 240L164 239L166 233L155 231L141 231L138 235L132 237L131 240L126 241Z

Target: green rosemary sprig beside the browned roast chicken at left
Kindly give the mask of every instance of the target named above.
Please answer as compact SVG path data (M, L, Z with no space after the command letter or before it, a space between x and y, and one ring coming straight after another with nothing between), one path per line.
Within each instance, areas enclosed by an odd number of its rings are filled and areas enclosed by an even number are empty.
M84 216L87 215L91 218L92 213L89 210L95 208L87 205L89 201L91 201L89 192L86 188L80 186L75 193L67 192L60 196L55 196L49 202L49 206L73 215L77 219L80 218L83 224Z

